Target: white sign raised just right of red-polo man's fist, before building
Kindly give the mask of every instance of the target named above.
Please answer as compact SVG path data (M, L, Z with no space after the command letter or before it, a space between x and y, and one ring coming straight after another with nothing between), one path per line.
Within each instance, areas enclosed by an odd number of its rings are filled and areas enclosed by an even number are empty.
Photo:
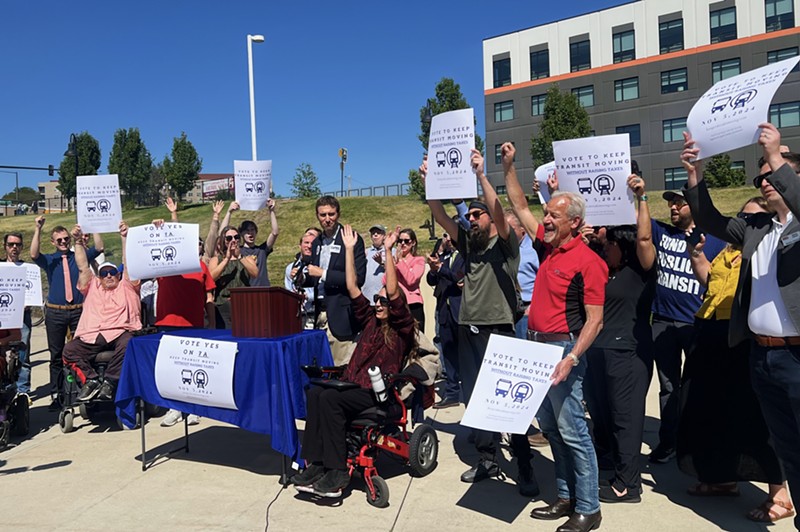
M558 188L586 200L586 223L635 224L630 137L605 135L553 142Z

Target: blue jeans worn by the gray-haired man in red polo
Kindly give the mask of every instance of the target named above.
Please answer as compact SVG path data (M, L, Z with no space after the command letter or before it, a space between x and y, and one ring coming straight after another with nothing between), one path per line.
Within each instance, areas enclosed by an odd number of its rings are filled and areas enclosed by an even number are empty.
M573 342L548 342L564 348ZM600 510L597 455L583 411L583 376L586 359L572 368L569 376L551 386L536 417L553 451L556 487L560 499L575 499L575 511L593 514Z

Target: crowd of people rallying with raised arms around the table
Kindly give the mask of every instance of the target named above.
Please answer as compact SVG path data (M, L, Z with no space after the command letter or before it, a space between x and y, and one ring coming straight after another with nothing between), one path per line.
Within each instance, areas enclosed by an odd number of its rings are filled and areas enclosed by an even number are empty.
M583 197L558 190L557 178L548 182L551 199L537 219L517 178L511 143L501 148L511 207L504 209L482 155L473 150L483 196L452 200L454 216L441 201L428 201L444 233L427 256L408 227L375 223L365 246L340 222L339 201L319 198L318 226L300 236L284 287L303 296L303 326L326 331L334 364L359 387L308 390L308 465L295 477L298 490L335 497L347 486L344 426L374 404L368 366L399 370L425 337L424 279L436 300L435 330L427 334L441 355L434 408L469 403L492 334L563 350L536 415L538 429L510 435L471 430L478 459L461 475L463 482L502 475L498 445L505 439L516 458L520 494L536 497L531 446L549 445L557 499L535 507L531 517L566 518L559 532L599 527L601 502L642 500L639 455L655 370L660 428L649 462L657 467L677 457L678 467L696 477L687 491L697 497L738 495L740 481L767 483L767 499L747 517L769 523L794 516L787 483L800 490L800 155L781 146L780 132L768 123L758 142L764 157L753 184L760 195L735 217L714 206L688 134L680 155L686 188L663 194L669 222L651 218L638 173L627 181L636 198L635 225L588 225ZM419 170L424 178L427 161ZM177 220L171 199L167 209ZM90 237L79 226L54 227L55 252L41 253L45 219L36 218L30 255L50 287L45 304L54 392L66 365L81 382L78 401L111 398L131 333L143 325L230 328L231 289L269 286L267 258L279 236L274 200L265 207L270 232L261 244L255 222L231 224L236 202L220 219L223 209L223 202L212 205L209 233L198 242L198 273L141 284L128 279L123 265L104 259L99 234ZM121 222L123 263L127 231ZM6 260L18 263L22 234L6 234L4 245ZM21 336L29 343L27 310L24 323ZM74 333L69 343L68 331ZM92 359L109 350L115 355L101 381ZM24 351L20 359L18 389L27 394ZM58 409L58 401L51 407ZM162 424L184 416L170 411Z

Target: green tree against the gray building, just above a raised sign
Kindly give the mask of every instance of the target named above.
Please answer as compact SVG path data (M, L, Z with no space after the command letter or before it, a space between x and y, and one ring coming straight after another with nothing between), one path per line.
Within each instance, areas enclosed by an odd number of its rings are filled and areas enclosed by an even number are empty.
M531 138L533 167L553 160L553 141L588 137L591 131L589 114L578 97L571 92L561 92L554 83L547 91L539 132Z

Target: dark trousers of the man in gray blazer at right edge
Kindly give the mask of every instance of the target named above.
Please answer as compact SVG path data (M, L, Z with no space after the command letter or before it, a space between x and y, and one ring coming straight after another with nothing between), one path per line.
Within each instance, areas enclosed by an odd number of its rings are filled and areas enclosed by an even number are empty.
M750 376L794 506L800 505L800 347L753 344ZM794 518L800 530L800 515Z

